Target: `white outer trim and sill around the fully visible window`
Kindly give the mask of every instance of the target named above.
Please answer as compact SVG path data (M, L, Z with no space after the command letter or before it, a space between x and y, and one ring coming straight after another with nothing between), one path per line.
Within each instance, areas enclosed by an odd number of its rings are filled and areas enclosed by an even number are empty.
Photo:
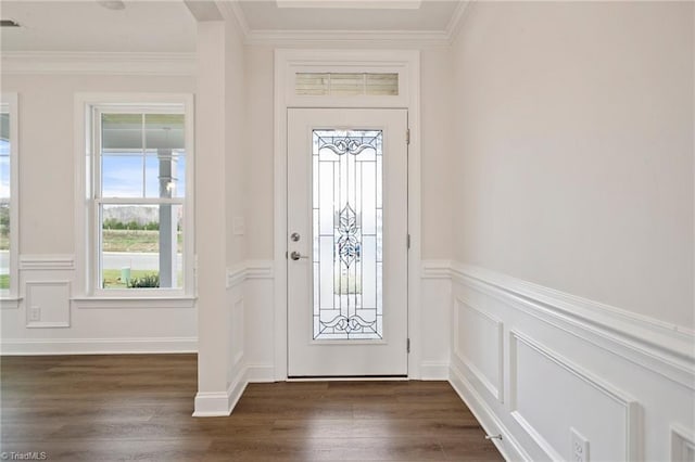
M89 175L91 163L90 130L91 112L96 106L141 107L157 104L179 104L184 106L186 118L185 149L186 215L184 229L184 288L181 290L100 290L96 287L97 238L94 220L90 217ZM156 308L162 303L172 307L190 308L195 299L194 268L194 107L190 93L76 93L75 94L75 254L76 254L76 297L79 308ZM155 301L156 300L156 301Z

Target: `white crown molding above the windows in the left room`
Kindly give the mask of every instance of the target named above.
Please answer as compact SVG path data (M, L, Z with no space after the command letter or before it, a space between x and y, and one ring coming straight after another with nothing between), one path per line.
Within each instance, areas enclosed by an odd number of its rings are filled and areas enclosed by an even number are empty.
M3 75L194 76L195 53L7 51Z

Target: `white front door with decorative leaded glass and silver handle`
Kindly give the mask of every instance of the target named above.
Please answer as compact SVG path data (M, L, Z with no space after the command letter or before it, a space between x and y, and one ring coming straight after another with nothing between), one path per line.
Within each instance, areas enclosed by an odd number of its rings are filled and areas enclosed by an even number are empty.
M288 110L288 375L407 375L407 111Z

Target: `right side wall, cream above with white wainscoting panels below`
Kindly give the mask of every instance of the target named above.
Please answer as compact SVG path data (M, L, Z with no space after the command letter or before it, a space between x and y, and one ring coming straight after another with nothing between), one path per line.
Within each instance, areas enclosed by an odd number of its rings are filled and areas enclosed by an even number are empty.
M694 13L476 2L452 50L453 261L424 272L511 460L695 455Z

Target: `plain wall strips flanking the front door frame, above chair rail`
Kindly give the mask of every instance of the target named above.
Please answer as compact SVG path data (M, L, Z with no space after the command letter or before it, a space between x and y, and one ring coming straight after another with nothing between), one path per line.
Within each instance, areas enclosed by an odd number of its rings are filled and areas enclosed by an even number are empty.
M331 47L337 47L331 43ZM318 44L326 48L326 44ZM330 47L329 47L330 48ZM352 47L348 47L352 48ZM422 257L450 258L453 66L448 48L420 50ZM248 155L247 258L273 257L273 48L245 48Z

